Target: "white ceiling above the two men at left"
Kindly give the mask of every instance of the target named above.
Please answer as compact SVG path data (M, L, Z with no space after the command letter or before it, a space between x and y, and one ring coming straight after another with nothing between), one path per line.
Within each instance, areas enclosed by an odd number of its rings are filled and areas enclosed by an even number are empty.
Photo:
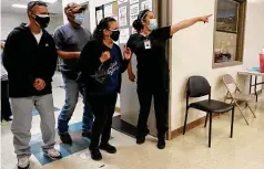
M12 8L11 6L28 4L30 0L1 0L2 13L26 13L27 9ZM52 4L48 4L49 11L52 15L62 15L62 0L58 0Z

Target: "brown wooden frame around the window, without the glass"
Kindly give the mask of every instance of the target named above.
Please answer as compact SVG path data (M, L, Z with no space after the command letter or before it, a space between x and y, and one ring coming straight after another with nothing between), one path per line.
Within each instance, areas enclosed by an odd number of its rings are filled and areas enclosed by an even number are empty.
M246 4L247 0L233 0L235 2L240 3L238 9L238 23L237 23L237 39L236 39L236 55L235 61L231 62L222 62L222 63L215 63L214 62L214 50L215 50L215 32L226 32L226 33L235 33L231 31L217 31L217 2L220 0L215 0L215 10L214 10L214 38L213 38L213 56L212 56L212 65L213 68L220 68L220 67L229 67L229 66L236 66L243 64L243 55L244 55L244 36L245 36L245 19L246 19Z

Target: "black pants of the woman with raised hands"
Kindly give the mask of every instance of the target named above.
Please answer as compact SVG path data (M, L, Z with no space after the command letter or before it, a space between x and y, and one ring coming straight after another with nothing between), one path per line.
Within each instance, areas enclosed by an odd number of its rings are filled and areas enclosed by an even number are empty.
M118 93L110 95L88 94L88 101L94 115L90 149L98 148L99 144L106 145L109 142L116 98Z

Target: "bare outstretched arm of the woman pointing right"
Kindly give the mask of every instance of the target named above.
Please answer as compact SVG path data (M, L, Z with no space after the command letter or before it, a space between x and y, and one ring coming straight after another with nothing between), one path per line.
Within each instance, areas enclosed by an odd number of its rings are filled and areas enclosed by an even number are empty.
M171 35L173 35L174 33L176 33L177 31L181 31L183 29L186 29L189 27L192 27L193 24L197 23L197 22L204 22L207 23L209 22L209 18L212 14L209 15L204 15L204 17L197 17L197 18L193 18L193 19L189 19L189 20L184 20L181 21L179 23L175 23L171 27Z

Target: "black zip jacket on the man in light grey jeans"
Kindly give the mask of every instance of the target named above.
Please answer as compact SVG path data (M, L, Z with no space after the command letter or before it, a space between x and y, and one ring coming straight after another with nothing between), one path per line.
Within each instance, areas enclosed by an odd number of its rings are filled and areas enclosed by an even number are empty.
M30 97L51 94L57 59L54 41L45 30L42 30L38 44L24 23L16 28L8 35L2 53L2 62L9 77L9 96ZM35 78L42 78L45 82L44 89L34 88Z

